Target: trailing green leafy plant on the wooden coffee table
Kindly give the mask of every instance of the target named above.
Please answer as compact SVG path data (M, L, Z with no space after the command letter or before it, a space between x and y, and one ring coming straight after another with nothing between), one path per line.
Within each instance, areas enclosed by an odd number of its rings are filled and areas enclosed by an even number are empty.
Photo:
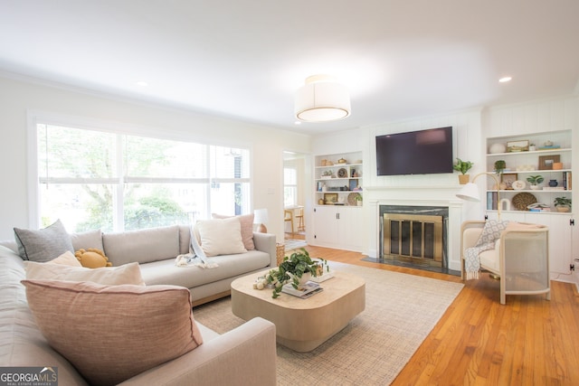
M281 287L286 283L291 283L294 288L298 288L299 281L305 274L314 278L322 275L324 268L329 270L327 260L312 260L305 248L293 252L281 261L278 268L271 269L265 277L268 284L273 286L271 297L274 299L280 297Z

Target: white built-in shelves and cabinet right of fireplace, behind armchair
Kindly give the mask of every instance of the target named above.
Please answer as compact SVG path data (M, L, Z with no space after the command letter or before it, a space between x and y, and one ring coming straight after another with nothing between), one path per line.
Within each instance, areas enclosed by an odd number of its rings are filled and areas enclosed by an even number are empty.
M562 130L487 138L487 172L496 177L487 179L487 215L497 219L500 206L502 220L548 226L552 274L569 274L573 260L573 212L558 212L554 203L556 197L572 199L572 135L572 130ZM497 161L505 162L500 174ZM543 182L531 187L527 178L536 175Z

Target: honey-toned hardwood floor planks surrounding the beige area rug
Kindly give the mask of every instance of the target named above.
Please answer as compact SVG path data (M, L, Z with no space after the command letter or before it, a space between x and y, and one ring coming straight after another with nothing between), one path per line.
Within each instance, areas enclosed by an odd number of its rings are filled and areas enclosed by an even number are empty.
M312 258L460 282L460 278L362 261L357 252L307 248ZM579 294L551 282L545 295L508 295L482 274L465 287L393 385L578 385Z

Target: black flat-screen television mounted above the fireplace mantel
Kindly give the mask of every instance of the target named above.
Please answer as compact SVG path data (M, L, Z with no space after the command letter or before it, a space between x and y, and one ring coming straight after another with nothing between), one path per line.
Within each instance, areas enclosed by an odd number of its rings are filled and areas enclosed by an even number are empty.
M452 173L452 127L376 137L378 175Z

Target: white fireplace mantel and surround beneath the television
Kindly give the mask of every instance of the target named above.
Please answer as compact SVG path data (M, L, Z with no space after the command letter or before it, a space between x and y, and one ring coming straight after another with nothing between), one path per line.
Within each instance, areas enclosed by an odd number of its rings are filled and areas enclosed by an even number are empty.
M380 205L413 207L445 207L449 210L447 230L447 257L449 269L460 271L460 224L464 218L463 202L455 194L459 186L373 186L364 193L365 218L369 237L368 257L377 259L379 250Z

